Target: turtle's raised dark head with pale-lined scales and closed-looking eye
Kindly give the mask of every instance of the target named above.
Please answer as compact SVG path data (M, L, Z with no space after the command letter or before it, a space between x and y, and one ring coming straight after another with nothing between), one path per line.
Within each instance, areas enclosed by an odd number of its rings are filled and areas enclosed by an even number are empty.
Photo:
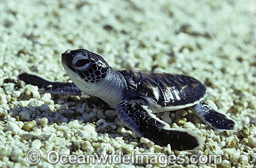
M61 54L61 63L74 83L99 83L110 68L101 56L84 49L66 50Z

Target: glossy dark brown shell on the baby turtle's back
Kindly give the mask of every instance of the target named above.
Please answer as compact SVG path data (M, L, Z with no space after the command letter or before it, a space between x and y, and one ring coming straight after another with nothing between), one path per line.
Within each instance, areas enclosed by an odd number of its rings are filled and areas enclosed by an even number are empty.
M203 98L206 87L195 78L168 73L118 70L125 78L125 96L150 98L162 107L182 106ZM149 100L149 99L147 99Z

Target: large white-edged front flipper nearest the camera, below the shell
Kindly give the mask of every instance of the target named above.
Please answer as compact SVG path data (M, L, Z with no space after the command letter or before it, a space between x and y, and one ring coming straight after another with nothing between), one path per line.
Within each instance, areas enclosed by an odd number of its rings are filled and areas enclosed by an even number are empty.
M202 148L199 135L189 129L170 128L152 114L141 99L122 101L117 105L117 115L125 126L155 144L166 146L169 143L171 149L188 151Z

